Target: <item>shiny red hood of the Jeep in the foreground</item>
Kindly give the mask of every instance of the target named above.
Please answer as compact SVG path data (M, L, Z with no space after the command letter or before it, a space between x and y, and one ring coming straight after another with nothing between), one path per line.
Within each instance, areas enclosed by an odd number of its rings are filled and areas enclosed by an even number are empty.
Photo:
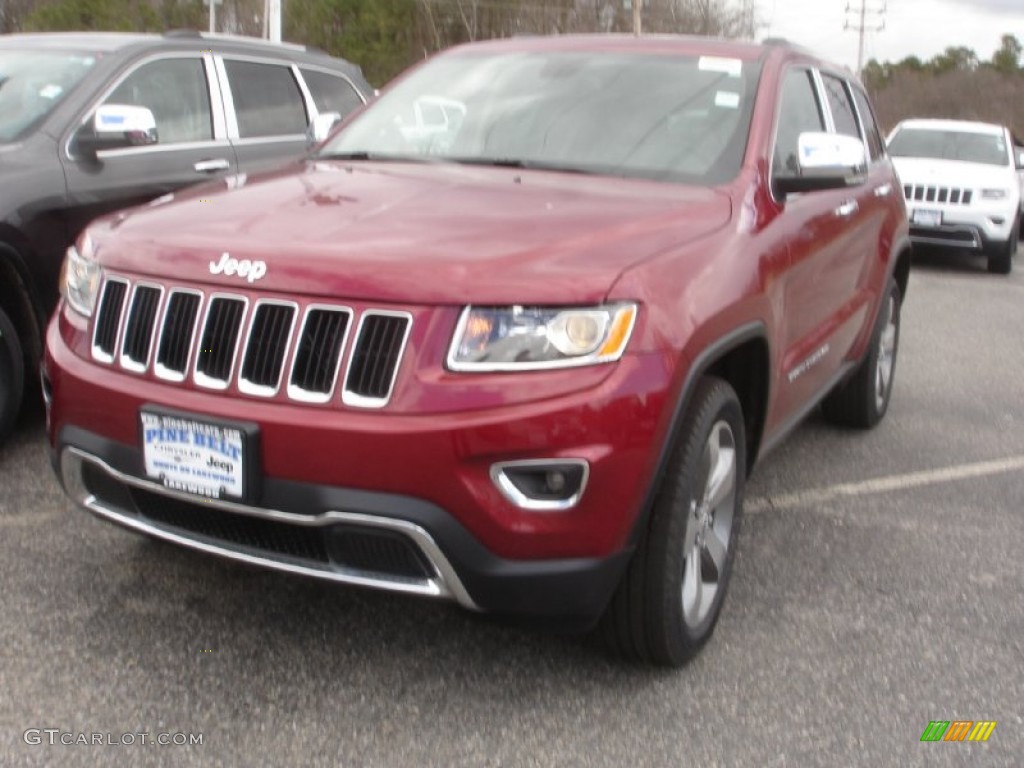
M108 219L93 237L106 268L221 288L420 304L583 302L600 301L631 264L723 226L730 211L724 194L678 184L310 162L158 201ZM265 269L226 274L215 268L225 253Z

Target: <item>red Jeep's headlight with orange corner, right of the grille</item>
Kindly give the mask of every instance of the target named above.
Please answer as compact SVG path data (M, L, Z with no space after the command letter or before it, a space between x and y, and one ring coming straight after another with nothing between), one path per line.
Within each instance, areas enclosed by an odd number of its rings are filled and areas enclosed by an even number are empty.
M447 366L453 371L536 371L617 360L636 304L596 307L475 307L463 310Z

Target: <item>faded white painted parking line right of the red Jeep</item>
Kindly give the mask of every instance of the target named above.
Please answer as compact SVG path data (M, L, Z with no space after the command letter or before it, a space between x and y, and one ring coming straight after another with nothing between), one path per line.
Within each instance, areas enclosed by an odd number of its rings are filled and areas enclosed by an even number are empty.
M845 497L867 496L869 494L888 494L892 490L924 485L940 485L945 482L967 480L973 477L1004 474L1024 470L1024 456L1014 456L976 464L961 464L941 469L926 469L921 472L907 472L901 475L887 475L860 482L843 482L823 488L798 490L794 494L780 496L761 496L748 499L743 504L745 514L757 514L769 510L796 509L798 507L813 507Z

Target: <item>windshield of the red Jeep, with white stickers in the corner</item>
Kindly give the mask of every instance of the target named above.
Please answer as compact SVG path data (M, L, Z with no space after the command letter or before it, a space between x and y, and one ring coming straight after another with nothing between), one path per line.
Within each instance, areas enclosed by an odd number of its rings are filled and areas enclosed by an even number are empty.
M321 151L721 183L742 163L757 62L463 51L427 62Z

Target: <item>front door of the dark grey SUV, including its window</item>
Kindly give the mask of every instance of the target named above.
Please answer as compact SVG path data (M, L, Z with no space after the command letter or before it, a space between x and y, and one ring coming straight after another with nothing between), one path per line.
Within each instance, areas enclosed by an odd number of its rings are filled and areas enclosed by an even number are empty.
M95 158L79 152L77 129L100 104L147 108L157 121L158 143L103 151ZM66 137L60 161L72 232L100 214L234 172L212 57L175 52L136 62Z

